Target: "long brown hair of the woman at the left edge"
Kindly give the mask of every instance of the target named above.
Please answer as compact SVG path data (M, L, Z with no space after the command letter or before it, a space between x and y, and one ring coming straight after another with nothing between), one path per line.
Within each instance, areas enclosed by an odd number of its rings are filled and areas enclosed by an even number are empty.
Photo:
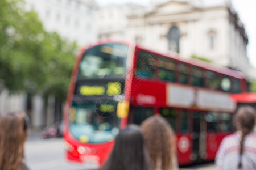
M17 170L24 158L27 122L23 112L11 112L0 118L0 169Z

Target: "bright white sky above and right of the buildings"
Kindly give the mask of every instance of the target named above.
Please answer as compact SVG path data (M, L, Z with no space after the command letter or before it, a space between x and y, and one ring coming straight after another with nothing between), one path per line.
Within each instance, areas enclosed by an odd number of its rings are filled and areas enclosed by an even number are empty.
M255 0L231 0L234 9L238 13L241 22L245 25L249 43L247 45L247 56L252 66L256 68L256 1ZM122 4L133 2L140 5L148 5L150 0L96 0L100 6L110 3Z

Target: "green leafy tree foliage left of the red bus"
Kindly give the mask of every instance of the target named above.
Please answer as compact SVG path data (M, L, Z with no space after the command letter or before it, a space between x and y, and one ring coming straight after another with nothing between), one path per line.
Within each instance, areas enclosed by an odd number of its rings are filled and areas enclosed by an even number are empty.
M76 49L75 42L46 32L35 12L23 10L22 1L0 1L0 80L11 92L64 100Z

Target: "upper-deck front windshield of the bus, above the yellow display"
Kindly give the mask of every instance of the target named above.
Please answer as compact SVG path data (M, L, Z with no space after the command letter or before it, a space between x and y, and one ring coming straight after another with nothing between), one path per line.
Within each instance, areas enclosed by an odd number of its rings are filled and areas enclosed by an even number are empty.
M78 78L104 78L125 74L128 46L104 44L86 50L79 67Z

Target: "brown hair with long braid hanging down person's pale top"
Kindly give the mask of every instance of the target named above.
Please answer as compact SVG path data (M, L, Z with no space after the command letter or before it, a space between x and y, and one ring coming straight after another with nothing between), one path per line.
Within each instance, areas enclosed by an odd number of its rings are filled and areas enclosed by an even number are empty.
M251 131L253 131L255 124L255 110L249 105L240 107L234 117L234 125L238 131L241 131L242 137L240 141L240 151L238 158L238 168L242 168L242 155L243 155L243 145L245 142L245 137Z

